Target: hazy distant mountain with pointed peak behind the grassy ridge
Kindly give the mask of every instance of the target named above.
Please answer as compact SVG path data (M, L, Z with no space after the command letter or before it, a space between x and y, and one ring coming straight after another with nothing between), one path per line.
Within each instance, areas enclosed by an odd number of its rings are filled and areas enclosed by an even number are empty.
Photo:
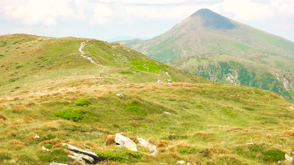
M212 81L215 81L214 77L218 77L217 82L260 87L275 91L288 100L293 101L294 98L294 43L209 9L196 11L167 32L152 39L119 43ZM211 57L211 54L216 56ZM190 60L190 57L200 58L200 55L206 60L201 63ZM224 57L226 60L222 60ZM208 65L212 61L214 63L211 65L215 67ZM243 64L243 61L247 63ZM231 71L230 75L215 69L221 67L220 63L223 62L228 66L224 69ZM237 67L231 65L234 62L239 63ZM189 66L186 66L187 64ZM264 66L267 70L263 70ZM205 68L205 71L200 73L199 68ZM248 76L256 75L258 78L248 79L245 84L242 79L247 78L240 72L244 69L253 73ZM213 72L214 76L211 76L209 71ZM228 79L231 79L232 74L237 80L230 82ZM267 78L263 75L267 75ZM268 80L272 80L272 83L268 83Z

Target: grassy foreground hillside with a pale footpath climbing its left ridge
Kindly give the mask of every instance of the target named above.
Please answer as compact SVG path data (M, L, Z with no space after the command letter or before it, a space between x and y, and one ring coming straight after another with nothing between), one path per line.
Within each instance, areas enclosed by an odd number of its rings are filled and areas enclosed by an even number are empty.
M276 93L212 83L94 39L14 34L0 44L1 165L80 165L64 143L105 165L291 164L294 104ZM117 133L138 152L116 147Z

